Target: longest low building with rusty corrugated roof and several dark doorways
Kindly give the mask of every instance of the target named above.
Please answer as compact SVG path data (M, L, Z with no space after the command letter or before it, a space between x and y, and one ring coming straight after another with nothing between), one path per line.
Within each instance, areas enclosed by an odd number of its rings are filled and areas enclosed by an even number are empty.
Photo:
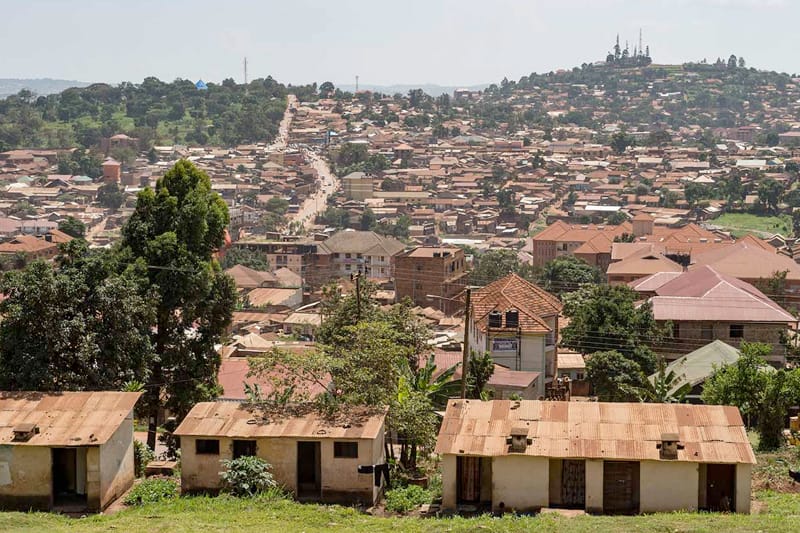
M442 507L750 511L755 455L735 407L450 400Z

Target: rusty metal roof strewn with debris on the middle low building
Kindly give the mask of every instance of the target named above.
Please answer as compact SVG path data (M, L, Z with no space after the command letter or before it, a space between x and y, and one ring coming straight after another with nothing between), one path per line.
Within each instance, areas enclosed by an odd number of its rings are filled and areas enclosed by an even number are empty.
M194 406L175 430L193 437L307 437L315 439L374 439L383 431L386 411L349 409L332 418L308 406L295 412L267 413L242 402L202 402Z

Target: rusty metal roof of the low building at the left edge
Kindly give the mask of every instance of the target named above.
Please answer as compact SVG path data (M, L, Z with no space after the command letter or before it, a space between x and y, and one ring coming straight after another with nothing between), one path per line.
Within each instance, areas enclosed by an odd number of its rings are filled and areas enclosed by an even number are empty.
M97 446L128 417L140 392L0 392L0 445ZM14 428L38 433L14 441Z

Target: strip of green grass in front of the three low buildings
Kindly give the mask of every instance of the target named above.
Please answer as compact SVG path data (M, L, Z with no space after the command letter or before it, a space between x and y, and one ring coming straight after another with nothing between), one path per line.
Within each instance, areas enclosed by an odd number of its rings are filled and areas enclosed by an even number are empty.
M676 490L680 490L676 487ZM645 516L552 515L503 518L381 518L337 506L292 501L237 500L193 497L126 509L110 516L67 518L46 513L0 513L4 532L146 531L546 531L558 533L616 533L628 531L796 531L800 495L764 491L758 494L759 514L665 513Z

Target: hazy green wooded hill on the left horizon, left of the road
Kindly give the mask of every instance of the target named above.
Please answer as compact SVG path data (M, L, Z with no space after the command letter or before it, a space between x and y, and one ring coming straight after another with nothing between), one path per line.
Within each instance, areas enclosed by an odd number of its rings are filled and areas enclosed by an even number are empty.
M0 151L91 148L116 133L137 137L142 149L157 143L230 146L269 141L277 133L287 86L268 77L206 87L150 77L138 84L96 83L46 96L22 90L0 100ZM291 90L302 99L316 94L314 85Z

